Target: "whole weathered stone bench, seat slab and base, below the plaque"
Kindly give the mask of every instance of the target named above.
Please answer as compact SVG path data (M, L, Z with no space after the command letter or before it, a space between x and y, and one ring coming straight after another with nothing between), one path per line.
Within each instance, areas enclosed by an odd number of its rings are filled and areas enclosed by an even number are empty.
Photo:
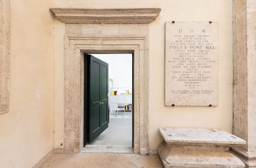
M197 128L160 128L164 139L158 153L164 167L245 167L229 151L246 142L226 131Z

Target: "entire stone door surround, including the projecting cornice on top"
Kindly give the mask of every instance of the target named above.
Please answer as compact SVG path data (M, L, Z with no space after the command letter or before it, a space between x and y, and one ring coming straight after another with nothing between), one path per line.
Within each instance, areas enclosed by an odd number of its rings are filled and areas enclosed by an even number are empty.
M148 24L159 8L64 9L51 12L65 24L64 153L83 147L83 53L133 53L134 153L148 145Z

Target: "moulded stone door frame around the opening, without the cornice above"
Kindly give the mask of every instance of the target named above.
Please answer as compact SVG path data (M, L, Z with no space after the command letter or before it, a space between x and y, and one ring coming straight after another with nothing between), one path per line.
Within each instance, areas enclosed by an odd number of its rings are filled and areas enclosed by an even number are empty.
M148 37L127 35L65 35L64 152L83 147L83 53L134 54L134 153L148 146Z

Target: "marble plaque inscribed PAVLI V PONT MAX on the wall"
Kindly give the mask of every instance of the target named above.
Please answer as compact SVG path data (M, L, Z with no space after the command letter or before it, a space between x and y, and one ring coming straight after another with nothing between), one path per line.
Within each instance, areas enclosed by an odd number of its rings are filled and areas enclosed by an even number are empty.
M165 105L218 105L218 22L165 23Z

